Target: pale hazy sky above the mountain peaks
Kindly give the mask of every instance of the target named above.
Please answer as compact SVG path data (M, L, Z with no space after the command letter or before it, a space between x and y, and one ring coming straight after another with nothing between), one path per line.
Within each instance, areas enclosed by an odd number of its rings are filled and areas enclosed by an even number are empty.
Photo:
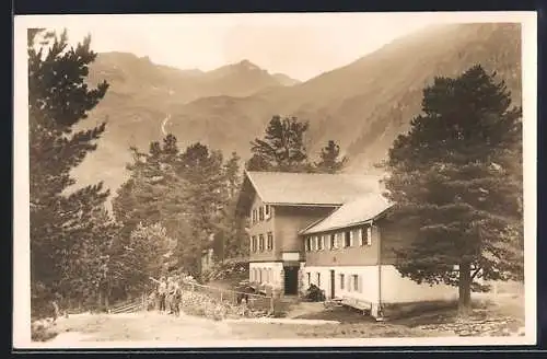
M155 63L212 70L248 59L307 80L434 23L499 21L492 13L51 15L36 25L92 35L95 51L128 51Z

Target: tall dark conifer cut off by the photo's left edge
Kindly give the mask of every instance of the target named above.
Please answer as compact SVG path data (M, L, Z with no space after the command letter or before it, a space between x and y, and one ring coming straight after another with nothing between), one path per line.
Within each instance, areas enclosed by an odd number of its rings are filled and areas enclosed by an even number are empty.
M101 183L67 195L75 184L71 170L95 150L105 130L105 123L80 131L73 126L88 117L108 84L90 88L84 81L96 57L90 37L74 48L68 46L67 32L57 36L35 28L27 36L31 280L69 294L82 268L90 268L74 257L79 248L101 245L89 231L108 196Z

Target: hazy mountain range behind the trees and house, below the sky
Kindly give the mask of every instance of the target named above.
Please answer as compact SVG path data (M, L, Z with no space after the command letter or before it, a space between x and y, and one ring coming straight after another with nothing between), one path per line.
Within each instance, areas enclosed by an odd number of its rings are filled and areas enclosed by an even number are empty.
M423 88L476 63L496 71L521 105L521 30L513 23L430 27L305 82L247 60L205 72L131 54L100 54L89 81L106 80L110 88L82 126L106 118L107 130L74 175L80 184L104 181L115 190L127 175L128 148L144 150L167 132L181 148L201 141L246 159L249 141L274 115L310 121L311 157L333 139L349 159L346 171L371 172L420 113Z

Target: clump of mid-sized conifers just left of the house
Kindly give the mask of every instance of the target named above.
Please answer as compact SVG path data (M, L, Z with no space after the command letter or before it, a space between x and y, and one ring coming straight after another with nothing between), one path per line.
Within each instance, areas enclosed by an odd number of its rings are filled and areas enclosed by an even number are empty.
M181 152L173 135L151 142L148 153L131 151L131 176L113 201L116 218L124 225L117 253L124 253L138 225L158 222L176 241L173 260L197 276L201 251L210 246L222 221L230 185L236 185L237 167L232 163L236 158L223 166L220 152L201 143Z

